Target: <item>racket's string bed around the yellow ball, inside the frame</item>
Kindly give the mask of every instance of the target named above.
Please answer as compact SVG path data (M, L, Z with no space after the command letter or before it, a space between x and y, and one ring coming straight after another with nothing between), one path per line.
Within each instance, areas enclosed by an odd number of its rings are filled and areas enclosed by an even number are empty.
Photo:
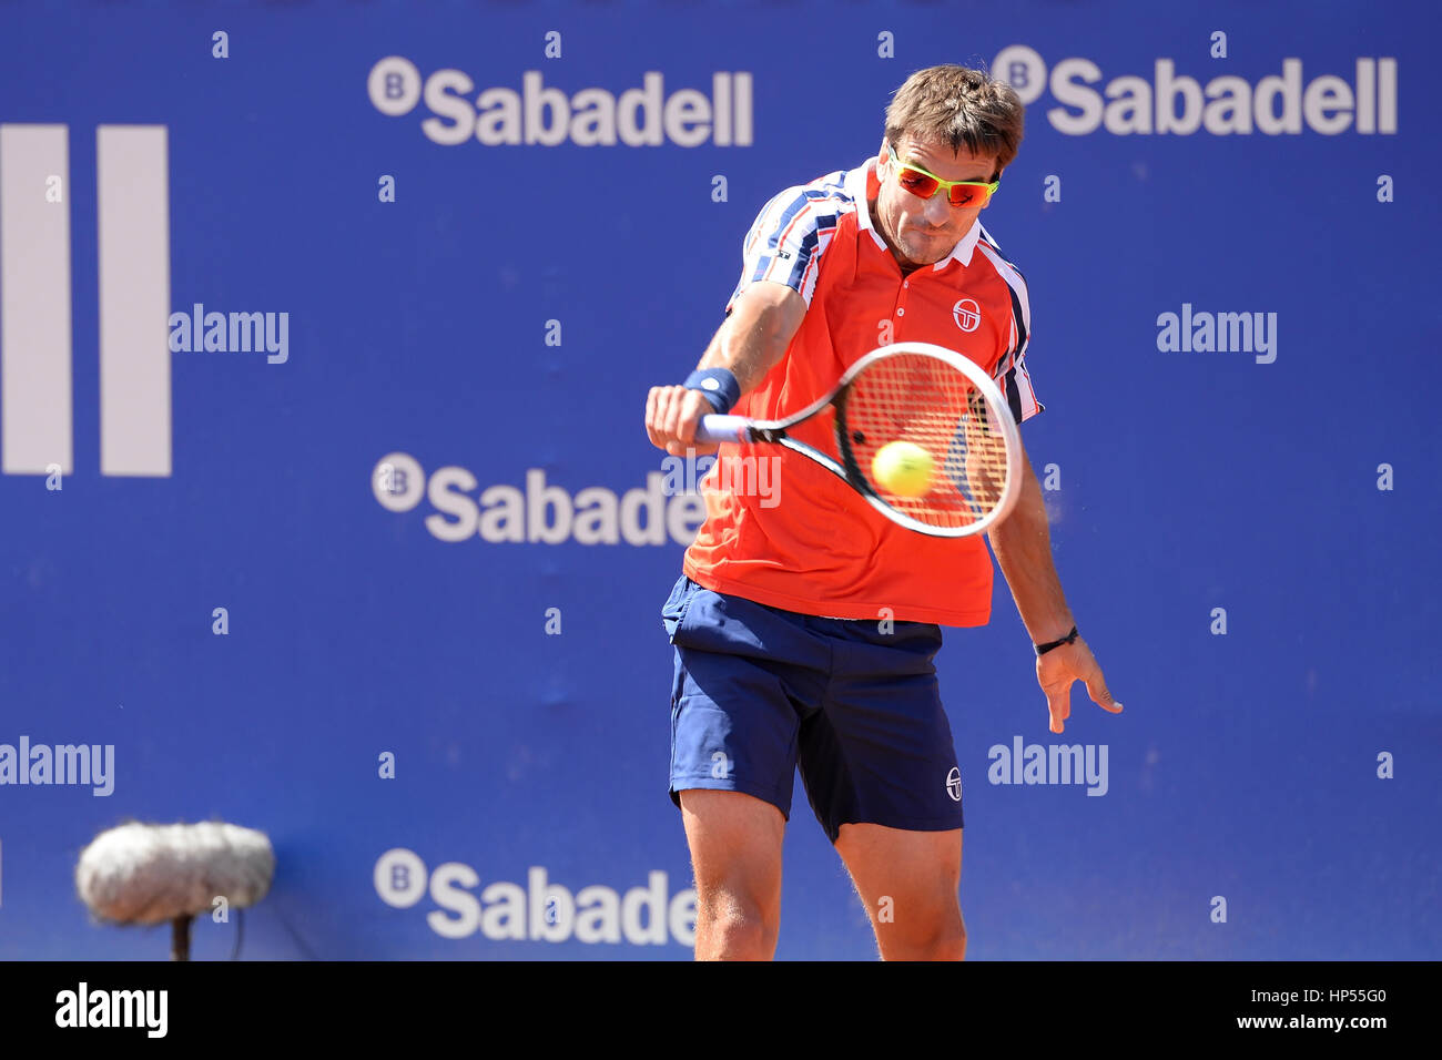
M978 522L1001 503L1007 486L1007 443L992 425L998 414L945 361L924 353L877 361L846 391L854 473L887 505L930 526ZM917 446L932 460L930 486L920 496L895 493L877 480L872 461L894 441Z

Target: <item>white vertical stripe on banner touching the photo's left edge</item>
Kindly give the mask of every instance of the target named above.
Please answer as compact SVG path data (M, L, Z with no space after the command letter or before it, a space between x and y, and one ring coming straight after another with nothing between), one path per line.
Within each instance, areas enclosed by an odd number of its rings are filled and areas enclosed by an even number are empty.
M0 125L0 466L74 470L65 125Z

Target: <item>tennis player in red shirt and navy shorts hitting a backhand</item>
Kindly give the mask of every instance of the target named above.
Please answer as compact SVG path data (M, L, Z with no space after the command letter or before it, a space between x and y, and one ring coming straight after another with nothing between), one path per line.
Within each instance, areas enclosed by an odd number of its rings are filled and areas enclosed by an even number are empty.
M715 451L694 443L702 415L779 418L903 340L979 363L1018 423L1041 411L1025 363L1027 284L978 219L1021 136L1022 104L1004 82L952 65L913 74L875 157L761 209L698 369L647 395L652 443ZM741 450L722 446L720 460ZM696 959L774 955L797 766L881 958L962 959L962 783L933 656L940 626L988 622L991 557L978 536L893 524L783 447L747 450L782 461L776 496L748 489L754 474L718 476L662 609L675 648L671 798L696 877ZM1021 476L1019 503L988 536L1060 733L1074 681L1103 710L1122 705L1077 633L1025 457Z

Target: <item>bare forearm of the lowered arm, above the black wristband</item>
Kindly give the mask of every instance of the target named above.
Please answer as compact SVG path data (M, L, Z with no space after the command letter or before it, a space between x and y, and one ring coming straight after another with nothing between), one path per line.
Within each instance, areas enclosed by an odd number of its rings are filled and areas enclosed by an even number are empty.
M1074 620L1051 558L1047 506L1025 454L1017 508L986 536L1032 643L1057 640L1070 633Z

